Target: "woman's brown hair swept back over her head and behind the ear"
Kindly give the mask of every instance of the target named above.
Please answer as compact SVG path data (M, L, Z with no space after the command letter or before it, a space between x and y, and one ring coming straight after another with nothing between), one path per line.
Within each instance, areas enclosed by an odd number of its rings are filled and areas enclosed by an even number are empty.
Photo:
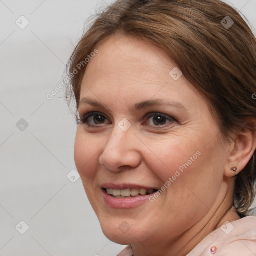
M230 141L234 130L256 130L256 38L233 7L220 0L117 0L95 15L67 63L69 104L75 99L79 105L84 59L119 34L165 50L206 99L224 140ZM254 152L235 176L234 201L241 217L255 196L255 158Z

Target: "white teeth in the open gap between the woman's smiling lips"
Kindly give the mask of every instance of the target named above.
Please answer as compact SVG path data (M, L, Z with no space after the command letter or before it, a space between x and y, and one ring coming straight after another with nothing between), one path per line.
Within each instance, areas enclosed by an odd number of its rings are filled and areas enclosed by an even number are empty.
M140 188L113 189L113 188L103 187L102 189L106 191L106 193L108 193L109 195L115 198L131 198L136 196L152 194L158 191L157 189L143 189L143 188L142 189Z

